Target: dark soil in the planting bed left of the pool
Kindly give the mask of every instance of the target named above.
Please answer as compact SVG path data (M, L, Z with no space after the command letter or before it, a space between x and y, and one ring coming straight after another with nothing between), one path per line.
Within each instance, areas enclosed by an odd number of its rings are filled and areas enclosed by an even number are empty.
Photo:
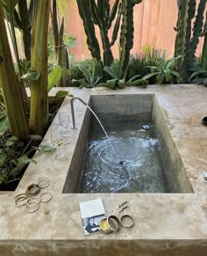
M63 99L59 99L58 101L54 101L52 103L49 104L49 119L48 119L48 127L51 125L52 121L54 120L54 117L56 115L56 113L58 112L61 103L62 103ZM11 137L11 134L9 131L6 132L6 134L4 135L4 140L6 141L7 139L9 139ZM28 147L27 151L32 150L33 147L39 147L39 144L41 143L41 141L34 141L33 143L31 143L31 145ZM1 149L1 146L0 146ZM23 150L25 150L25 144L21 147L18 148L18 152L19 155L21 155L21 152L23 152ZM35 154L35 150L31 151L31 154L29 154L28 156L31 158L33 155ZM21 180L21 178L23 177L25 170L27 168L28 165L26 165L21 172L18 173L18 177L16 177L16 180L11 181L7 184L0 184L0 191L14 191L17 187L18 187L18 183ZM4 169L4 167L2 167L1 169ZM0 173L1 175L1 173Z

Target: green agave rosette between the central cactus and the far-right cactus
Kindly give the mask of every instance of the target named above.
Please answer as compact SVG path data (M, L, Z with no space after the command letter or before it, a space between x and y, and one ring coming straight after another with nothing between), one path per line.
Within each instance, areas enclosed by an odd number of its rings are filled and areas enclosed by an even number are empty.
M182 59L182 56L177 56L168 60L164 58L158 58L154 66L149 66L151 73L142 77L148 80L150 77L155 78L155 84L164 83L177 83L182 82L182 76L175 71L176 63Z

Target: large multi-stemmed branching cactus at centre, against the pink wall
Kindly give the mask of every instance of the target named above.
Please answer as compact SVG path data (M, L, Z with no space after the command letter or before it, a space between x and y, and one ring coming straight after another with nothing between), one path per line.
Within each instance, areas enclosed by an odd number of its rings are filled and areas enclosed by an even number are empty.
M122 18L120 48L121 48L121 69L124 70L129 62L130 50L133 46L133 7L141 3L142 0L116 0L110 5L110 0L77 0L79 13L82 17L89 49L94 49L92 40L94 38L94 25L99 27L102 46L103 46L103 65L111 66L114 58L111 52L111 46L118 39L118 30ZM92 16L92 20L90 17ZM115 20L111 40L108 33L112 22ZM92 24L91 24L92 21ZM97 48L97 47L96 47ZM91 51L91 50L90 50ZM100 48L98 48L98 54ZM91 55L94 56L93 51Z

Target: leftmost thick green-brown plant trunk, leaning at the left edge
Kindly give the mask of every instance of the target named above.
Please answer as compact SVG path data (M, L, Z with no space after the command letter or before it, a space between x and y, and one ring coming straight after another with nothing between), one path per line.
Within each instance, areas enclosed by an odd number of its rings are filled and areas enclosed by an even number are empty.
M10 9L10 11L12 13L13 9ZM12 62L9 40L4 24L2 1L0 1L0 84L4 93L11 133L21 139L26 139L29 135L29 127L25 109L25 92L23 92L24 88L18 82Z

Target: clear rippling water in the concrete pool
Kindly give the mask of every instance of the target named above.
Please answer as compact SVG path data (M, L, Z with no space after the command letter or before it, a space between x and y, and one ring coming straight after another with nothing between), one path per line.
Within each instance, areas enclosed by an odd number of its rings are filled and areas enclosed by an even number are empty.
M116 121L105 129L108 138L96 121L92 122L79 191L168 193L153 125L147 121Z

